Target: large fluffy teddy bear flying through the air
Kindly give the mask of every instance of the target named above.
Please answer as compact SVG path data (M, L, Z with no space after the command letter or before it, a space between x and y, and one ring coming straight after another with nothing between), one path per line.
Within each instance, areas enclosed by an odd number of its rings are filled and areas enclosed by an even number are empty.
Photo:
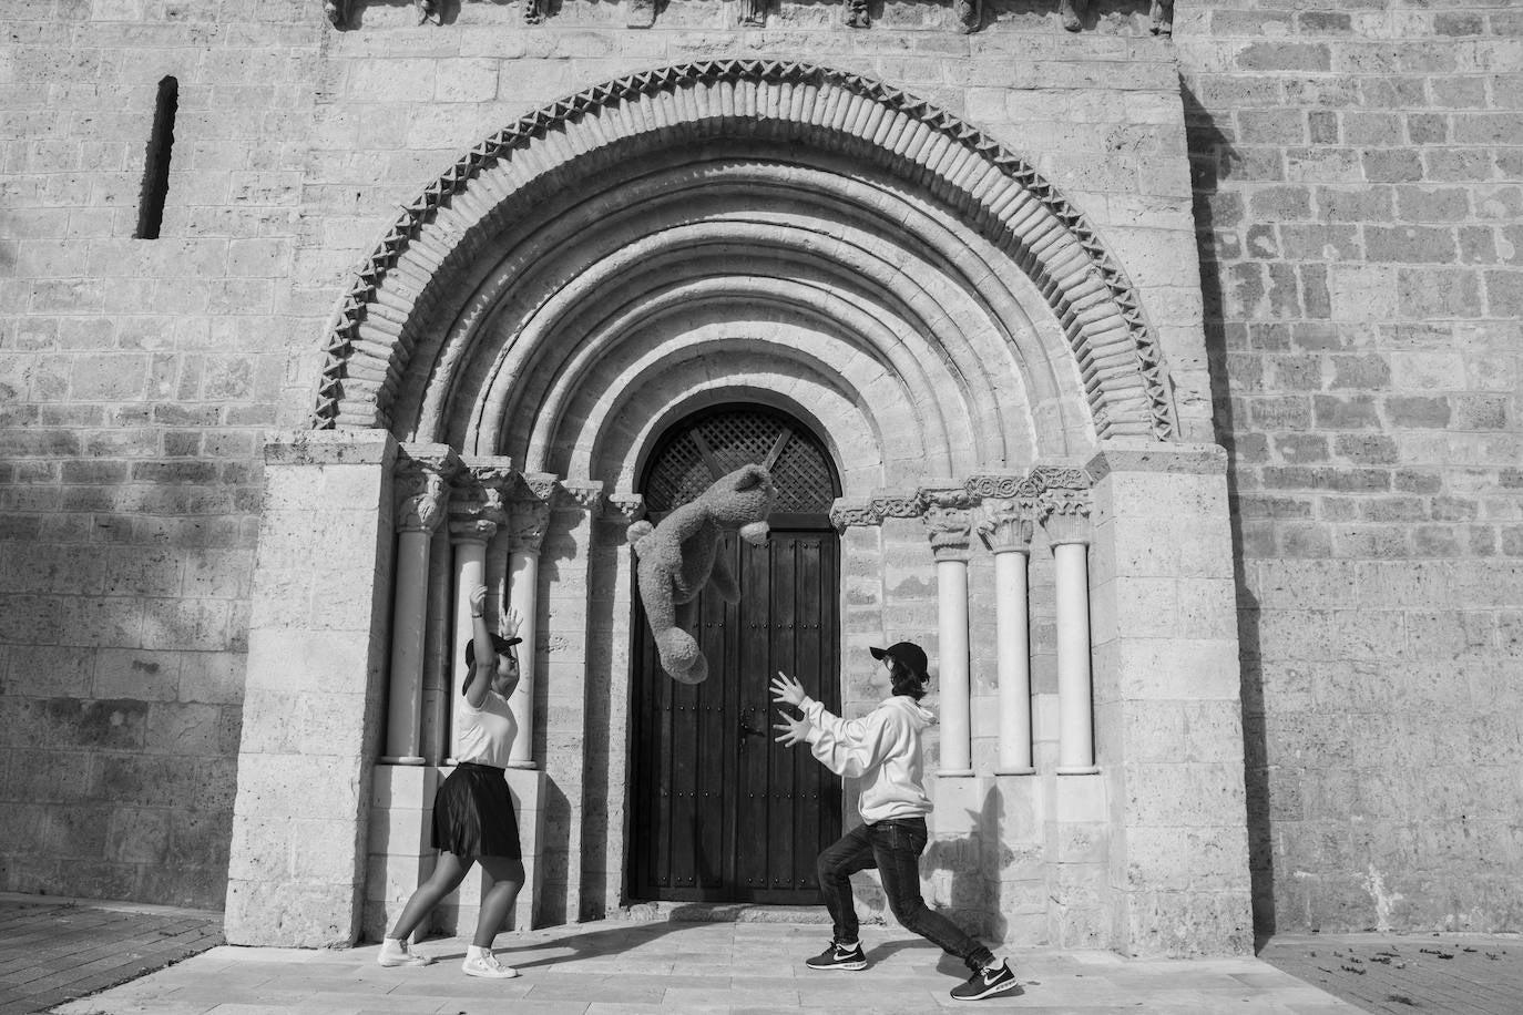
M646 604L661 668L673 680L702 683L708 677L708 660L688 633L704 586L714 586L726 603L740 598L734 575L719 557L719 534L739 531L752 546L765 546L766 517L775 501L768 470L742 466L667 514L659 525L635 522L629 527L640 600Z

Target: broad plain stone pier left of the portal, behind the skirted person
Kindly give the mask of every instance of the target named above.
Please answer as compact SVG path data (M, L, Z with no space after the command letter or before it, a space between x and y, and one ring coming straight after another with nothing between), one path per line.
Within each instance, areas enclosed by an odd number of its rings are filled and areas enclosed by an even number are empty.
M306 431L265 444L230 943L344 947L359 933L396 453L384 431Z

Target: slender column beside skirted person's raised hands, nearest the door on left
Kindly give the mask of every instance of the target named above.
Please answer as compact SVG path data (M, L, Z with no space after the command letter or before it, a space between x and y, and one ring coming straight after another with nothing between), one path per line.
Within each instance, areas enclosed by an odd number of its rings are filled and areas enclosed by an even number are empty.
M518 616L518 688L507 700L518 721L518 737L509 765L536 768L535 764L535 682L539 668L539 548L550 525L556 498L556 478L528 473L513 496L507 531L509 610Z

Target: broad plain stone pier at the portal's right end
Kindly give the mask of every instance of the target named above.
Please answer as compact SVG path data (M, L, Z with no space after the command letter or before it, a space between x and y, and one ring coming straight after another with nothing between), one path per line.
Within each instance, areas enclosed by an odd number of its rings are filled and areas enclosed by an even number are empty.
M1103 441L1087 472L1112 947L1250 954L1226 453Z

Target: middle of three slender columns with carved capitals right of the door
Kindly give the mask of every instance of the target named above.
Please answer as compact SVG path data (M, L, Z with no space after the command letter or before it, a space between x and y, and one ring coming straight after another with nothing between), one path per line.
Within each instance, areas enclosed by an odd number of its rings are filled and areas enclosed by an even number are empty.
M999 765L995 775L1031 775L1031 628L1027 565L1031 510L1019 501L988 498L978 525L995 554L996 676L999 679Z

